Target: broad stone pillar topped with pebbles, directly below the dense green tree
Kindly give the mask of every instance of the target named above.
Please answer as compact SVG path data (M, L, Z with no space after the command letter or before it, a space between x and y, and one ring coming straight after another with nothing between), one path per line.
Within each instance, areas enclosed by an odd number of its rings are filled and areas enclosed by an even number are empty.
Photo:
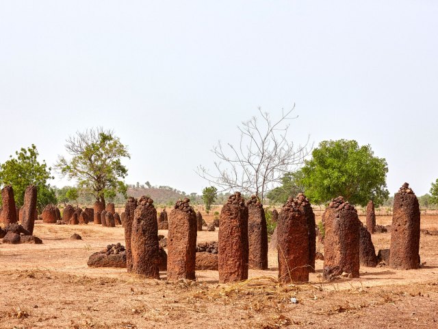
M324 267L326 280L348 273L359 278L359 217L344 197L333 199L324 215Z

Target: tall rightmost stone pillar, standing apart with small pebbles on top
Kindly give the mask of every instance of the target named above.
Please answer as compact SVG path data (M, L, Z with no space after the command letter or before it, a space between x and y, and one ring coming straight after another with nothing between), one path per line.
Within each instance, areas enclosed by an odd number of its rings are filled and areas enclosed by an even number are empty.
M389 266L417 269L420 266L420 206L407 183L394 196L393 214Z

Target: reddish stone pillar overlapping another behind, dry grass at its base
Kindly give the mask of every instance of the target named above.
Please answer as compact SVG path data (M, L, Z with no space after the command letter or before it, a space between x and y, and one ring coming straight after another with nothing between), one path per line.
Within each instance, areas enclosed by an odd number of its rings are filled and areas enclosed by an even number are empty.
M281 282L309 281L309 232L303 207L305 198L289 197L280 210L277 225L279 280Z

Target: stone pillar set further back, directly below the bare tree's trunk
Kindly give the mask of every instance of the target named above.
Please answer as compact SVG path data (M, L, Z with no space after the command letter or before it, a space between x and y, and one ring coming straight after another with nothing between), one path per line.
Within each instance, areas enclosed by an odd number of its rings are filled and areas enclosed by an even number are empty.
M268 269L268 229L265 211L253 195L248 202L248 266L250 269Z

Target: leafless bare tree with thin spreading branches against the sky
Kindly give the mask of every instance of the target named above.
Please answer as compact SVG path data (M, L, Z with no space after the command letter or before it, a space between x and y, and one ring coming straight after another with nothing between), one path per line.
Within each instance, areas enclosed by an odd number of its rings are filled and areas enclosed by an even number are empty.
M198 167L198 175L223 191L242 191L257 195L263 201L266 193L281 183L283 175L302 164L311 151L309 137L303 146L295 146L287 138L287 121L298 117L291 115L294 108L287 112L282 110L277 121L272 121L270 115L259 108L260 118L253 117L237 126L239 145L227 143L226 150L219 141L211 150L218 158L214 162L216 175L203 166Z

